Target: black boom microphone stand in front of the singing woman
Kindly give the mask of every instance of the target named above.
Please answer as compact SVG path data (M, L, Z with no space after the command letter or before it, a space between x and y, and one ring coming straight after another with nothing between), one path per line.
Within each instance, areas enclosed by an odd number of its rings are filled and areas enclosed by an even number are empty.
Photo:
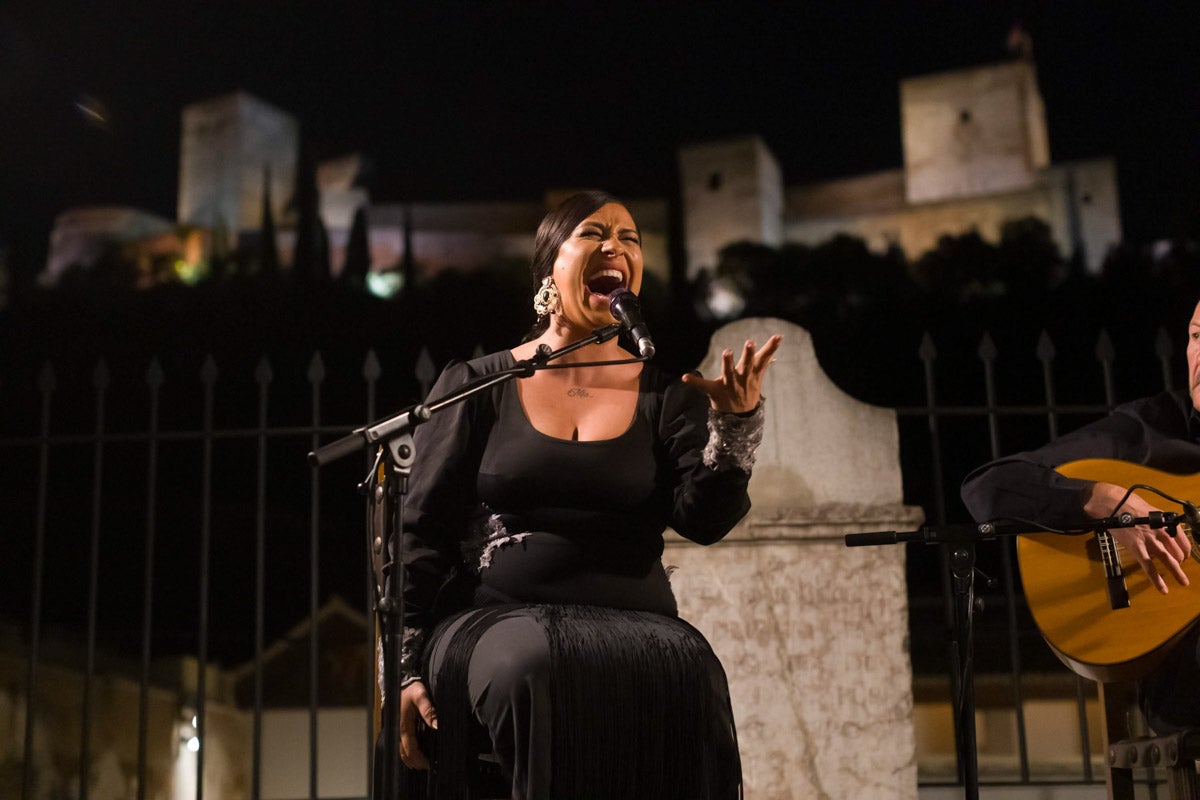
M367 495L367 547L376 576L376 616L383 651L383 708L380 729L376 740L376 766L371 796L394 800L400 794L400 655L403 625L403 572L401 531L404 522L404 498L416 449L413 431L438 411L456 405L481 391L516 378L529 378L539 369L552 368L550 362L589 344L607 342L622 330L619 323L592 331L589 336L558 350L540 345L529 359L494 373L479 375L437 399L418 403L336 439L308 453L313 468L344 458L366 445L383 443L377 451L371 474L359 485ZM629 359L628 362L648 357ZM613 362L586 362L571 366L589 367ZM622 361L619 363L625 363ZM553 365L554 367L559 365ZM372 528L374 529L372 531ZM373 535L372 535L373 533ZM389 558L390 557L390 558Z

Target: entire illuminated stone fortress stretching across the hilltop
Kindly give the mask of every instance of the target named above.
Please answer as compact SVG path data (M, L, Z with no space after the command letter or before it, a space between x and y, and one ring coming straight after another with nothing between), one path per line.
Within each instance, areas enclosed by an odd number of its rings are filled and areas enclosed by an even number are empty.
M869 175L787 186L757 136L682 148L688 278L715 267L721 248L737 241L816 245L844 233L876 251L899 247L916 260L941 236L973 230L996 241L1004 222L1030 216L1045 221L1060 251L1079 255L1092 271L1121 241L1116 164L1050 163L1031 59L902 80L900 107L904 166ZM262 229L269 182L278 252L288 264L298 160L299 124L260 100L236 92L186 107L178 222L212 230L212 241L234 247L239 234ZM408 265L420 276L527 260L538 221L566 193L547 192L542 203L380 205L361 185L364 168L360 157L344 156L317 170L334 275L344 266L360 212L374 273ZM647 271L668 281L667 200L630 200L630 210L642 228ZM94 252L84 235L96 227L88 222L94 216L84 210L60 217L48 276Z

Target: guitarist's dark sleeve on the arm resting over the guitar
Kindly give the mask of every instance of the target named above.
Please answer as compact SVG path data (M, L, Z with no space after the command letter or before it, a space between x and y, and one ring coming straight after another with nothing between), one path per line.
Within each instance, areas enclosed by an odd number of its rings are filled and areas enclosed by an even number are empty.
M1116 458L1168 471L1200 468L1190 440L1190 408L1164 393L1118 408L1054 441L976 469L962 482L962 503L977 522L1020 517L1048 527L1079 524L1091 481L1064 477L1055 467L1081 458ZM1190 463L1189 463L1190 462Z

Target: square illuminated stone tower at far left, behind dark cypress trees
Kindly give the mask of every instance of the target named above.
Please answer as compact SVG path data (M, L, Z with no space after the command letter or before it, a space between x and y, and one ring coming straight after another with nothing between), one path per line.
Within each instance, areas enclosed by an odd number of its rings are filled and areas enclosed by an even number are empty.
M179 160L179 222L224 225L230 243L263 224L264 176L278 223L295 193L300 125L245 92L184 109Z

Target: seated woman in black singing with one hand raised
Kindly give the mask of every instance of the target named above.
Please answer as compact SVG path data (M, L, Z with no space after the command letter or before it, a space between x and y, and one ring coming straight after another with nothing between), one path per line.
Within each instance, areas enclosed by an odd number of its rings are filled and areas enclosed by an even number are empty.
M434 397L611 325L610 295L642 283L634 218L600 192L569 198L538 228L533 278L532 341L450 365ZM432 795L458 796L482 726L517 800L738 796L725 673L678 616L662 531L710 545L749 510L779 343L680 380L610 339L418 428L400 751L433 762Z

